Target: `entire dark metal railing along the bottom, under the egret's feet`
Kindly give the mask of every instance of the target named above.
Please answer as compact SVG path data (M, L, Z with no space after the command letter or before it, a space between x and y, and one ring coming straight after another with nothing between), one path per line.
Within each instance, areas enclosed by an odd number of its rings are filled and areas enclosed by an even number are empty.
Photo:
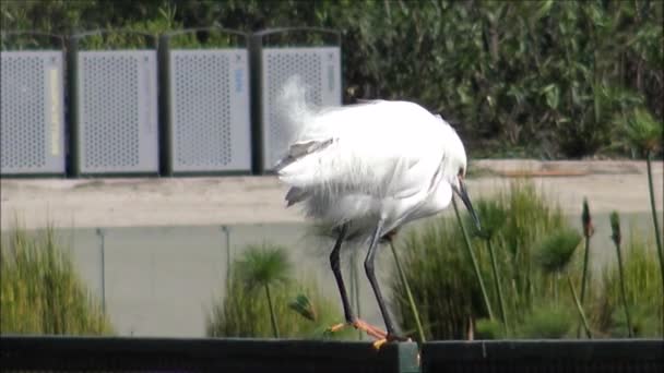
M420 358L422 354L422 358ZM0 336L5 371L664 372L661 339L434 341Z

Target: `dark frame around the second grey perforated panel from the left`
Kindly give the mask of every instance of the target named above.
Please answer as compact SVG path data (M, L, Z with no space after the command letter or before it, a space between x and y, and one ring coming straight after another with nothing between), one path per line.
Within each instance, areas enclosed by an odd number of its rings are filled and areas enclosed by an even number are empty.
M81 50L80 40L92 35L106 33L133 33L140 34L151 43L145 49L137 50ZM154 35L135 33L131 31L95 31L73 35L70 38L70 99L71 99L71 173L74 177L107 177L107 176L156 176L159 171L159 125L158 125L158 83L157 83L157 39ZM132 166L86 166L87 154L85 152L85 108L83 107L84 83L86 76L82 73L82 59L130 57L135 59L137 64L143 63L143 68L137 67L137 93L138 97L138 163ZM143 89L145 92L141 93Z

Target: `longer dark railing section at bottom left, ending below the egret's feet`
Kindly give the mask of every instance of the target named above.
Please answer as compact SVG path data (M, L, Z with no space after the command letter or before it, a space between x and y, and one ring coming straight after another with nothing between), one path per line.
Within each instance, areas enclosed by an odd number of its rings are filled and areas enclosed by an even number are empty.
M376 351L369 342L239 338L2 336L0 366L2 372L419 372L415 344Z

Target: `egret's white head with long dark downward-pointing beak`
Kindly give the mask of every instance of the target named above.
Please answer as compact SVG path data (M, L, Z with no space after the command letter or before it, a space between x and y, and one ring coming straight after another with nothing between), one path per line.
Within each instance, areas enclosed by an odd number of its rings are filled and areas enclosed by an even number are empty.
M479 231L482 230L482 227L479 225L479 218L477 218L477 214L475 214L475 209L473 208L473 204L471 203L471 197L469 196L469 193L465 189L464 180L465 172L467 170L467 158L465 155L465 148L463 147L463 143L461 142L461 139L459 137L454 129L452 129L452 127L450 127L449 124L448 127L450 133L446 136L448 144L443 165L444 177L452 186L454 193L459 195L465 207L469 209L469 213L473 217L475 226Z

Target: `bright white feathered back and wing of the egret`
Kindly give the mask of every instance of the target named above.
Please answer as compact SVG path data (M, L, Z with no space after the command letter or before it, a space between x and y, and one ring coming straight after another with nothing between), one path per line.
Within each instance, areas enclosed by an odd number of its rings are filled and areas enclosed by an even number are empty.
M282 181L301 193L405 197L427 188L444 155L447 125L411 103L372 101L313 118L277 164ZM295 193L295 192L294 192ZM296 201L297 202L297 201Z

